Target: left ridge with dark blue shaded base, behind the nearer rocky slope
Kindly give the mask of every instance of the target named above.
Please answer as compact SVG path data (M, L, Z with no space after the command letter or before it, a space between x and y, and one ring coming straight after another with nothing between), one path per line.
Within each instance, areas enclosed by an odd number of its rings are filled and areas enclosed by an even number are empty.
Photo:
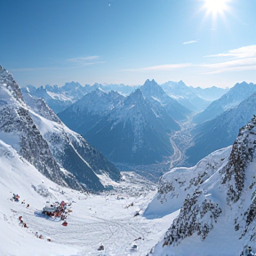
M84 138L70 131L42 99L24 95L29 114L48 142L52 156L62 168L71 172L85 188L94 191L104 189L99 177L120 180L120 172L114 164L92 148ZM97 175L100 175L99 177Z

